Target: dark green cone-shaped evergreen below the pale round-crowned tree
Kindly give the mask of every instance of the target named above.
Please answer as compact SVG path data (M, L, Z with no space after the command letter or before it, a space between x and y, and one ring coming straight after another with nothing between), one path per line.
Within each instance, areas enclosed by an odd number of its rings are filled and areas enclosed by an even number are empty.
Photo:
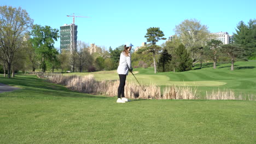
M192 59L183 44L175 49L173 57L172 63L177 71L187 71L192 68Z

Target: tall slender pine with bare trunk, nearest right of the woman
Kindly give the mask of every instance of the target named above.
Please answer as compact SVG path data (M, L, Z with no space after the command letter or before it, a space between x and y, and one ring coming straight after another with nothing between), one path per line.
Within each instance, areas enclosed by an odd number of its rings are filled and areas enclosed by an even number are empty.
M161 50L161 47L156 45L156 43L161 39L165 40L166 38L164 38L164 36L165 36L164 32L162 32L159 27L148 28L147 33L144 36L145 38L147 38L147 42L150 43L150 45L148 46L148 52L153 53L155 73L156 73L155 55L156 55L156 53L158 53Z

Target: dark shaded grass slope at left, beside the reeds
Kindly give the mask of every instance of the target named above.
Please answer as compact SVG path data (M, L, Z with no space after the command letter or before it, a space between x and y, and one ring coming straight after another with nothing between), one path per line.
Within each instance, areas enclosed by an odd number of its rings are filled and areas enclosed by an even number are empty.
M70 98L108 98L98 95L74 92L65 86L38 79L36 76L17 76L15 78L0 77L1 82L7 85L22 87L22 89L10 93L2 93L0 97L56 99L58 97Z

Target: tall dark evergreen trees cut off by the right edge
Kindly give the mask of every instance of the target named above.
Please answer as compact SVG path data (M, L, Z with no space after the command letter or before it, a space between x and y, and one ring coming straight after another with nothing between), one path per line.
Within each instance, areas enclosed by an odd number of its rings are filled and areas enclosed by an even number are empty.
M234 43L241 44L245 48L245 57L256 58L256 19L249 20L248 25L240 21L234 33Z

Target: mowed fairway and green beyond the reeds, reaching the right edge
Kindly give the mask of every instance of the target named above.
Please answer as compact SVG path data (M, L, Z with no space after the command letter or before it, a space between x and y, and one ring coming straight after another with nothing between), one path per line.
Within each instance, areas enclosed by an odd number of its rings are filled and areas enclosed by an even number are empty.
M201 97L205 97L206 91L232 90L236 95L255 95L256 97L256 61L235 62L235 70L230 70L230 63L217 64L213 69L212 63L203 64L199 69L197 64L194 70L181 73L165 72L154 74L153 68L134 69L136 78L142 85L165 86L191 86L195 87ZM98 71L95 73L71 73L65 75L93 74L98 81L119 80L117 70ZM128 82L136 82L132 74L127 76Z

